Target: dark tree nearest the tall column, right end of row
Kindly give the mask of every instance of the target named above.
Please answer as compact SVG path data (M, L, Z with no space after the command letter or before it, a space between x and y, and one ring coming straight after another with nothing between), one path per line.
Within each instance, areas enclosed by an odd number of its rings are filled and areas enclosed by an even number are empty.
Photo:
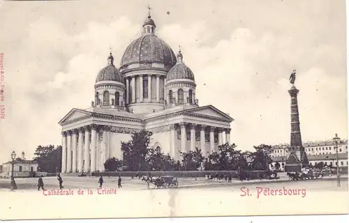
M259 146L253 146L255 152L249 153L249 157L252 162L250 164L253 170L267 170L268 166L273 162L271 154L273 153L272 146L260 144Z

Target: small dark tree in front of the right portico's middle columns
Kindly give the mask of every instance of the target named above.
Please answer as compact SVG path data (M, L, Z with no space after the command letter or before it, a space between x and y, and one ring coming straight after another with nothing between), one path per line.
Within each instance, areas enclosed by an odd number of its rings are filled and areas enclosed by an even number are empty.
M199 148L195 148L195 151L188 151L186 153L181 152L182 167L186 171L195 171L201 167L204 161L204 156Z

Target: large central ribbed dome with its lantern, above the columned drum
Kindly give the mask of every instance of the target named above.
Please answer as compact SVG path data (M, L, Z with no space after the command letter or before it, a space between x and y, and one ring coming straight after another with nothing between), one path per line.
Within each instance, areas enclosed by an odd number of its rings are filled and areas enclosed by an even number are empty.
M155 23L149 15L143 24L143 33L126 48L120 68L132 63L163 63L170 68L176 64L171 47L155 35Z

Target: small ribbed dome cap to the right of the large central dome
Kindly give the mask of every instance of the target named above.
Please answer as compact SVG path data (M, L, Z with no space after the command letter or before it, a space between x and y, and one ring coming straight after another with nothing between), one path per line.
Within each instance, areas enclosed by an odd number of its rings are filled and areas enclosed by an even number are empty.
M172 79L191 79L195 82L195 77L191 68L188 68L183 61L183 55L179 51L177 55L177 63L169 71L166 77L166 82Z

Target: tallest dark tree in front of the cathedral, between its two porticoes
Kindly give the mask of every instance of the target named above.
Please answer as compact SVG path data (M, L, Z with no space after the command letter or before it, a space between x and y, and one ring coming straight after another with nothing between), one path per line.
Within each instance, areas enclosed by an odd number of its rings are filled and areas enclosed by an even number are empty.
M150 137L152 133L146 130L135 132L128 142L121 141L121 151L124 156L124 164L128 171L140 171L148 169L146 157L149 151Z

